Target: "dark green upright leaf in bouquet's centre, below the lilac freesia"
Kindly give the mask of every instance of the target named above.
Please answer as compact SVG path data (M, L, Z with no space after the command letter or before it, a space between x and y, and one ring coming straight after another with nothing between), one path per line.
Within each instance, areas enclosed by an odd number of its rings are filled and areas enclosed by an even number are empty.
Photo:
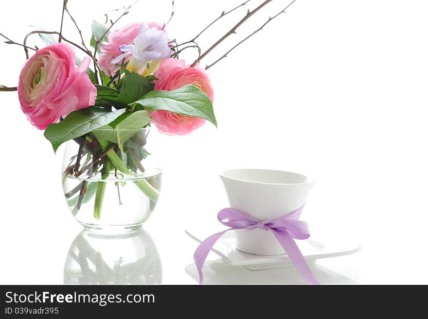
M125 76L118 101L124 105L135 102L153 90L155 85L145 76L125 69Z

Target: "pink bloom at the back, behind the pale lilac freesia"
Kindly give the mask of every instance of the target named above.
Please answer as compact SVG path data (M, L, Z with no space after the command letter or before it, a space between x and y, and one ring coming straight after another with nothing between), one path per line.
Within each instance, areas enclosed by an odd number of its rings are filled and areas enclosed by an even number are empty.
M120 70L121 63L111 63L115 58L121 55L123 52L119 50L121 45L130 45L134 43L134 39L140 32L142 23L131 23L125 27L110 32L107 36L108 42L103 42L100 46L101 56L98 59L98 64L101 71L106 73L108 76L113 76L117 71ZM162 25L151 22L148 24L149 28L162 29ZM164 30L165 31L165 30ZM129 61L130 56L125 58L125 62Z

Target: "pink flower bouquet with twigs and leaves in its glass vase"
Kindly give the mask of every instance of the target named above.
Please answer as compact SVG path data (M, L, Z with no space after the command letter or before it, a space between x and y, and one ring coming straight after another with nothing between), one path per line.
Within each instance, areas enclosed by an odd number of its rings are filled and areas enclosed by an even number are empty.
M206 121L217 125L206 70L294 1L205 69L199 63L270 1L248 10L203 53L196 42L198 37L250 1L223 11L194 38L182 43L171 38L165 28L174 15L174 1L171 16L163 24L131 23L116 29L132 5L114 21L107 14L106 23L92 21L89 46L67 0L63 2L59 31L35 30L23 43L0 34L5 43L22 46L27 57L18 86L0 86L0 90L18 91L22 111L31 124L44 130L55 152L67 142L62 171L64 195L81 224L91 230L133 229L149 217L160 191L160 168L147 139L151 124L168 135L188 134ZM67 16L80 35L80 44L62 33ZM29 45L31 35L39 35L47 46L39 49ZM85 53L85 57L79 58L74 50ZM179 59L184 50L197 51L192 63Z

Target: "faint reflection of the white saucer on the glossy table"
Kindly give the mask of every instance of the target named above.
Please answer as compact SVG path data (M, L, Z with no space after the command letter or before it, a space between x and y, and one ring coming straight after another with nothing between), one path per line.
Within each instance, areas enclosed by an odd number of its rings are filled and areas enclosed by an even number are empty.
M357 284L320 265L310 265L320 284ZM221 259L204 264L203 284L307 284L295 267L249 270L243 266L230 266ZM199 282L195 264L186 266L186 272Z

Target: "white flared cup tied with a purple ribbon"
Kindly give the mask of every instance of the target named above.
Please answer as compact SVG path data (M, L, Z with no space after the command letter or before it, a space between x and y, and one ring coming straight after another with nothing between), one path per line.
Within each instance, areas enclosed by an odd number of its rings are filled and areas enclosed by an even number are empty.
M303 206L314 180L291 172L234 169L220 175L229 203L260 220L273 220ZM279 255L284 248L270 231L234 230L236 248L256 255Z

